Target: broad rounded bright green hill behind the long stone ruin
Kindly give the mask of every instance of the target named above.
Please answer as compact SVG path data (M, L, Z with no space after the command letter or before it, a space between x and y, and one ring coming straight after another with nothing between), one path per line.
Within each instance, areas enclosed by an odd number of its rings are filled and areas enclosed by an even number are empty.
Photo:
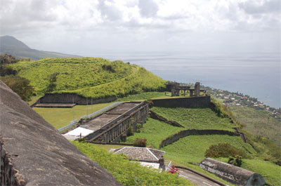
M159 91L165 81L143 67L103 58L45 58L11 67L30 80L36 93L77 93L85 97L122 97ZM51 79L54 80L51 90Z

